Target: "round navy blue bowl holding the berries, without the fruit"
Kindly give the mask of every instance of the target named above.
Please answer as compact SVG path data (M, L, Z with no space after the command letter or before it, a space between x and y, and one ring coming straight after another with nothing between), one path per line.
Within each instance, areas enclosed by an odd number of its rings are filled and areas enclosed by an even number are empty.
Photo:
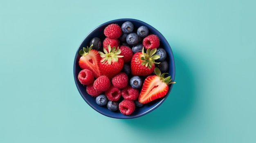
M166 94L166 96L151 101L150 103L146 103L143 107L141 108L136 108L135 111L130 114L130 115L124 115L121 112L117 111L117 112L112 112L110 110L108 110L108 108L106 107L102 107L99 106L96 102L95 102L95 97L92 97L90 95L88 95L88 93L86 92L86 87L83 86L82 84L80 84L79 80L78 80L78 73L81 70L81 68L79 67L79 58L81 57L79 55L79 51L86 46L90 46L90 40L93 37L99 37L102 40L105 39L105 35L103 34L103 31L105 29L106 26L108 26L109 24L115 23L118 24L119 26L121 26L124 22L126 21L130 21L134 24L134 29L137 29L139 26L147 26L149 29L149 32L152 34L155 34L159 37L160 39L160 47L164 48L166 50L166 53L168 54L167 56L167 61L169 63L169 70L168 73L169 75L171 75L171 78L174 80L175 77L175 64L174 64L174 57L173 57L173 52L171 50L170 45L168 44L168 42L166 41L166 39L164 38L164 36L157 31L157 29L155 29L154 27L150 26L149 24L142 22L140 20L135 20L135 19L117 19L117 20L111 20L109 22L103 23L100 26L98 26L97 28L95 28L94 30L92 30L85 38L84 40L81 42L81 44L79 45L79 48L76 51L76 55L75 55L75 59L74 59L74 80L76 83L76 87L80 93L80 95L83 97L83 99L85 100L86 103L88 103L89 106L91 106L94 110L96 110L97 112L108 116L108 117L112 117L112 118L117 118L117 119L131 119L131 118L137 118L137 117L141 117L145 114L148 114L149 112L153 111L154 109L156 109L158 106L160 106L165 99L168 97L168 95L171 92L171 89L173 87L173 84L169 85L169 90L168 93Z

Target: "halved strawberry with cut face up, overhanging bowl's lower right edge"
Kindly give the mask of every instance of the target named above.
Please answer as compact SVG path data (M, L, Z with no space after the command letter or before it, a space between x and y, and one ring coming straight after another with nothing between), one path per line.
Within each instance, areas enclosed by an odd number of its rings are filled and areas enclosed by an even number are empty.
M138 99L142 104L164 97L169 90L168 84L176 83L171 76L164 77L168 73L161 75L159 68L155 68L154 72L156 75L149 75L144 80Z

